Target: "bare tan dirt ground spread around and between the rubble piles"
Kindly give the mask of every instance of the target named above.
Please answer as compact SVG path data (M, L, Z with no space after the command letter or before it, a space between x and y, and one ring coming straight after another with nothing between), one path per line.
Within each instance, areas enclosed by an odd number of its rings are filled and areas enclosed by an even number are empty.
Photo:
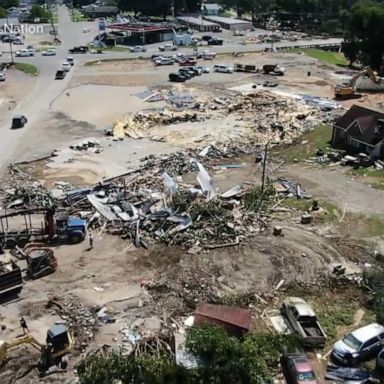
M338 81L333 74L337 69L301 55L245 54L236 59L219 56L206 64L210 67L219 62L263 65L276 61L287 68L287 75L278 79L276 92L291 96L302 93L333 96L333 87ZM137 167L139 159L148 154L167 154L190 147L192 138L197 138L194 145L199 146L200 139L207 133L219 139L224 132L236 129L238 122L230 118L224 121L219 116L215 121L187 122L172 127L174 140L168 142L147 138L112 141L104 137L103 130L111 128L115 120L142 109L161 108L163 102L145 103L136 95L146 89L169 88L168 73L175 69L154 68L149 61L139 60L79 67L66 92L52 103L50 118L43 121L36 132L29 133L19 148L19 153L24 153L20 158L31 159L54 148L60 150L58 156L33 164L28 171L47 187L53 187L55 181L90 185ZM308 71L311 76L307 76ZM20 82L33 82L20 74L17 76L20 76ZM255 74L211 73L195 77L178 88L213 98L229 90L260 85L265 79L265 76ZM20 87L16 86L17 89ZM17 91L13 95L16 99L21 97ZM358 102L376 106L384 101L383 98L383 95L369 95ZM351 103L342 104L348 107ZM155 127L154 135L161 130L162 127ZM70 144L90 137L100 140L102 153L68 149ZM235 164L244 162L245 166L222 171L209 168L221 191L238 184L260 183L261 170L252 158L230 161ZM273 176L297 180L313 196L354 213L377 214L382 210L383 191L352 180L337 168L286 164ZM191 177L195 175L186 175L184 180ZM44 342L47 328L55 321L68 319L70 313L81 312L79 316L82 318L87 311L93 318L106 306L108 315L116 321L80 327L86 336L84 339L77 335L81 341L79 349L71 355L68 373L56 373L41 381L62 383L73 377L75 365L84 351L103 344L126 344L122 330L137 322L141 324L156 318L163 325L170 317L182 321L200 302L220 302L227 296L250 292L268 294L282 279L284 286L296 285L314 291L328 289L328 278L335 264L360 271L362 264L373 262L359 240L340 234L337 226L330 228L329 223L315 221L308 226L301 225L300 215L301 212L294 210L272 212L265 218L269 223L266 233L252 237L241 246L197 255L163 245L153 245L148 250L137 249L127 240L102 233L100 229L93 232L93 248L89 248L88 239L78 245L54 247L58 270L47 277L26 281L20 297L2 305L0 324L5 325L5 330L1 331L0 338L19 335L19 319L25 316L31 333ZM273 225L280 225L284 236L273 236ZM63 317L56 307L47 308L50 299L61 303L69 314ZM84 307L77 312L76 306L80 304ZM30 347L24 347L11 354L11 359L0 371L0 381L38 382L36 370L27 372L29 365L36 362L37 355L32 352Z

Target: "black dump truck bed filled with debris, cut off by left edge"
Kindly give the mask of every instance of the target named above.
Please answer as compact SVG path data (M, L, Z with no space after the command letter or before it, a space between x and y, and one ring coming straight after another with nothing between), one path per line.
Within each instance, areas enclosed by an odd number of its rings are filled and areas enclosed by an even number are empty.
M14 296L21 292L21 269L9 254L0 255L0 297Z

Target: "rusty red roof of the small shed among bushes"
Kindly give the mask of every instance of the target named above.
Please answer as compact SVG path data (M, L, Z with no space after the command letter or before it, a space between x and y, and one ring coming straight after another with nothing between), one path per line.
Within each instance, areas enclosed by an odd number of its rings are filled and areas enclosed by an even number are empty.
M245 330L249 330L251 327L251 311L249 309L205 303L196 308L195 316L199 315Z

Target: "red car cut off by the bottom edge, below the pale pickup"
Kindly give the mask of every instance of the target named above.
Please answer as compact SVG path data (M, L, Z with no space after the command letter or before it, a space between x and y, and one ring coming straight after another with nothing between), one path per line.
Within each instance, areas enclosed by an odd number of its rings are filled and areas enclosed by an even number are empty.
M312 364L304 353L283 354L280 363L287 383L318 384Z

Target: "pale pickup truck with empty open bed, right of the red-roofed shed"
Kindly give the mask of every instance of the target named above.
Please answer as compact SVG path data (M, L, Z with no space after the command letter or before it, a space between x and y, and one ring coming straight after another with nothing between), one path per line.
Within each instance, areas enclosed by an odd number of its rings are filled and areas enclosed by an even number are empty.
M312 348L322 348L327 335L321 328L313 309L299 297L288 297L283 302L283 314L289 324L303 340L303 345Z

